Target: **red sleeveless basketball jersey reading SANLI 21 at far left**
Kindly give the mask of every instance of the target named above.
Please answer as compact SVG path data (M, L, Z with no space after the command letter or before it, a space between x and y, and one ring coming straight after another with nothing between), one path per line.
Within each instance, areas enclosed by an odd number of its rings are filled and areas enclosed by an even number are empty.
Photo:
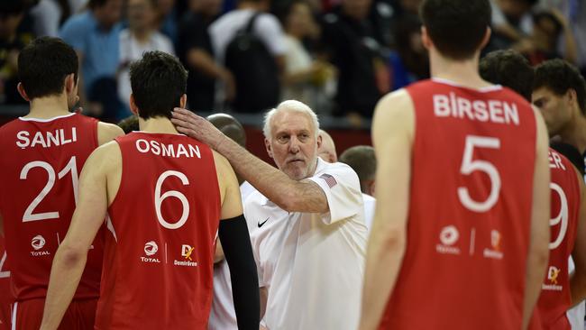
M0 213L16 300L46 297L76 207L78 175L96 147L97 121L84 115L19 118L0 128ZM102 253L96 241L74 298L98 297Z

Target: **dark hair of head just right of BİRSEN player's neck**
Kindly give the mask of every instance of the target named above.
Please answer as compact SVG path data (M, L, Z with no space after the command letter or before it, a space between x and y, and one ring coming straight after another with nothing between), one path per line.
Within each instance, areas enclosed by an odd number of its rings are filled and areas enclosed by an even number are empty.
M491 51L481 60L480 70L483 79L511 88L531 102L535 71L519 52Z

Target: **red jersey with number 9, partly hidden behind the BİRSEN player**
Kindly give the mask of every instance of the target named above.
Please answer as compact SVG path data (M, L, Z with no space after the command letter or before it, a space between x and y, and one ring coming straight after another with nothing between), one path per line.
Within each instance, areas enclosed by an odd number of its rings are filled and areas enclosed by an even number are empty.
M571 329L565 312L572 307L568 258L576 240L580 219L580 184L572 162L550 149L551 242L549 263L537 302L537 311L544 329Z

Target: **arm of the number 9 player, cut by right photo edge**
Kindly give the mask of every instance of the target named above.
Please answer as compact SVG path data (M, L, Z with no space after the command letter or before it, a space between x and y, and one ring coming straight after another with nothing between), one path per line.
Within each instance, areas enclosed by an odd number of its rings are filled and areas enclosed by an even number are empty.
M578 170L576 170L576 177L580 183L581 203L580 217L576 226L576 241L572 251L572 259L576 266L570 277L572 307L586 298L586 187Z

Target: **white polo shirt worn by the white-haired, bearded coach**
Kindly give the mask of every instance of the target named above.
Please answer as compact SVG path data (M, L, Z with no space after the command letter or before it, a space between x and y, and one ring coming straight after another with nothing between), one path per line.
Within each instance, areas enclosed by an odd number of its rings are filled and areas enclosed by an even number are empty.
M288 213L259 192L244 203L270 330L355 330L367 229L360 182L346 164L317 159L308 178L330 212ZM254 228L255 227L255 228Z

